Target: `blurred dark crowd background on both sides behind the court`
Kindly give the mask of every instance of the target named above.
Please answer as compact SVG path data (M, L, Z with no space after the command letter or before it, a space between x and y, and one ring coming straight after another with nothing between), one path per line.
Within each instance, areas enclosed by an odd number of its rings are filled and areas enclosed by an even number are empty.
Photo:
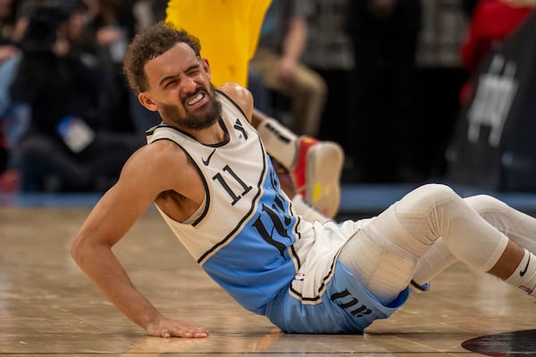
M343 183L533 191L534 3L273 0L248 87L298 135L342 145ZM113 185L159 122L126 85L122 57L166 7L0 0L0 191Z

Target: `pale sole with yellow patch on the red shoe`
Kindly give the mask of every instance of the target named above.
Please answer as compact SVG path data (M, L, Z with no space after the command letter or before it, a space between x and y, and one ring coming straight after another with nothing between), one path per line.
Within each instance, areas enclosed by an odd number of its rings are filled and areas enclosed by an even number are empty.
M306 202L329 218L339 211L343 163L344 152L336 143L322 141L307 152Z

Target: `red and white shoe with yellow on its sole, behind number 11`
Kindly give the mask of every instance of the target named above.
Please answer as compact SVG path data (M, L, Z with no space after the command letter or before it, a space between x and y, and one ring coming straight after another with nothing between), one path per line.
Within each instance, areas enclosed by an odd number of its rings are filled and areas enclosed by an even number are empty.
M339 211L343 163L344 152L339 144L299 137L297 160L291 171L296 192L329 218Z

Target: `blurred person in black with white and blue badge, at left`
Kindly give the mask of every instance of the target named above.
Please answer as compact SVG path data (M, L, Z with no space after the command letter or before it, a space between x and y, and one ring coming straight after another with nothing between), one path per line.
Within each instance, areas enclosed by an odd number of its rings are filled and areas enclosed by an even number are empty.
M105 190L143 145L143 137L110 131L100 101L103 73L71 53L71 31L84 10L74 0L37 5L21 39L11 95L31 111L13 148L22 190Z

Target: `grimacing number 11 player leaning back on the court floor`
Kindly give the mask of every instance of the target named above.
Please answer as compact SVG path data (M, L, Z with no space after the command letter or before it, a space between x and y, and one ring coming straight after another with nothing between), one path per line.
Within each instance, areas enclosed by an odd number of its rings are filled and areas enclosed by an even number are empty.
M418 263L439 237L456 259L536 295L529 252L536 220L490 196L463 199L434 184L372 219L306 220L281 190L251 123L251 94L236 84L211 86L196 38L156 24L130 44L125 72L139 102L163 123L148 131L148 145L96 204L71 253L148 335L208 336L164 317L113 254L153 203L210 277L288 333L362 333L389 317L406 302Z

